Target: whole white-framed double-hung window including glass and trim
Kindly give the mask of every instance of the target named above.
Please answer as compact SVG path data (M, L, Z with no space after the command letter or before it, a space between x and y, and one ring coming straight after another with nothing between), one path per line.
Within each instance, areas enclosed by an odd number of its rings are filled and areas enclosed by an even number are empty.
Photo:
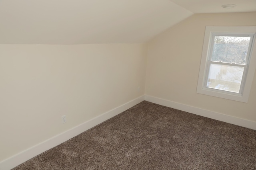
M197 93L248 102L256 68L255 39L256 26L207 26Z

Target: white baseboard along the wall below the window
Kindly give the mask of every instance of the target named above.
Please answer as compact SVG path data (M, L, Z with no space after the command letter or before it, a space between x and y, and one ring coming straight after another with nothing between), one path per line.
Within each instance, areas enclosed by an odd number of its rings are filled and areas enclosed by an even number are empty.
M196 115L200 115L200 116L208 117L211 119L224 121L226 123L231 123L234 125L247 127L249 129L256 130L256 122L254 122L254 121L249 121L246 119L241 119L238 117L233 117L230 115L225 115L225 114L217 113L214 111L200 109L198 107L188 106L188 105L184 105L184 104L180 104L180 103L176 103L176 102L172 102L169 100L164 100L161 98L156 98L156 97L148 96L148 95L145 95L145 100L148 102L155 103L155 104L160 104L162 106L172 107L174 109L186 111L186 112L193 113Z

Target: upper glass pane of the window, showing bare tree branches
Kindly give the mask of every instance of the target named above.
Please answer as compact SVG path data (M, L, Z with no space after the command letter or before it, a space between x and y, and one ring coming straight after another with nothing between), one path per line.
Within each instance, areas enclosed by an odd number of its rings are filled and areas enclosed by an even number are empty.
M250 37L214 36L211 61L245 64Z

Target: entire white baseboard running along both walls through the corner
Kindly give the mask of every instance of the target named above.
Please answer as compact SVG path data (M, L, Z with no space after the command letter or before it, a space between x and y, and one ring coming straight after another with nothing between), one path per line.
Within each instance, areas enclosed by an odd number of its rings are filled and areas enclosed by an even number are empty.
M23 152L20 152L6 160L3 160L0 162L0 170L10 170L19 164L22 164L23 162L33 158L34 156L41 154L42 152L49 150L53 147L56 147L57 145L68 141L69 139L75 137L76 135L79 135L80 133L110 119L111 117L114 117L115 115L118 115L119 113L122 113L123 111L129 109L132 106L135 106L136 104L142 102L143 100L146 100L148 102L152 102L155 104L160 104L162 106L172 107L174 109L179 109L182 111L186 111L189 113L193 113L196 115L208 117L211 119L216 119L219 121L224 121L227 123L231 123L234 125L247 127L250 129L256 130L256 122L249 121L246 119L241 119L238 117L233 117L230 115L224 115L221 113L217 113L214 111L209 111L205 109L201 109L198 107L188 106L176 102L172 102L169 100L164 100L161 98L156 98L153 96L143 95L139 98L136 98L130 102L127 102L126 104L123 104L119 107L116 107L110 111L107 111L106 113L103 113L102 115L99 115L89 121L86 121L72 129L69 129L68 131L65 131L63 133L60 133L59 135L56 135L55 137L52 137L42 143L39 143L38 145L35 145L34 147L31 147L27 150L24 150Z

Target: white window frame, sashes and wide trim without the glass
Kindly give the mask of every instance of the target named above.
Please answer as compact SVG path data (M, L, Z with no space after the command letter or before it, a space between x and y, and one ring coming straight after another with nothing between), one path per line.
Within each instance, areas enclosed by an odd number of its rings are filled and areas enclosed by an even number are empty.
M213 63L210 61L212 55L212 46L214 43L214 35L225 35L225 36L250 36L248 55L246 57L245 65L239 65L244 67L244 74L240 86L239 93L228 92L225 90L218 90L214 88L206 87L208 78L208 64ZM204 34L204 44L202 50L202 58L200 65L200 72L198 77L198 85L196 92L199 94L205 94L209 96L225 98L229 100L235 100L239 102L248 102L250 95L250 89L254 78L254 72L256 69L256 26L206 26ZM218 63L218 62L217 62ZM216 64L216 63L214 63ZM221 63L223 65L234 65L228 63ZM238 65L236 65L238 66ZM207 76L206 76L207 75Z

